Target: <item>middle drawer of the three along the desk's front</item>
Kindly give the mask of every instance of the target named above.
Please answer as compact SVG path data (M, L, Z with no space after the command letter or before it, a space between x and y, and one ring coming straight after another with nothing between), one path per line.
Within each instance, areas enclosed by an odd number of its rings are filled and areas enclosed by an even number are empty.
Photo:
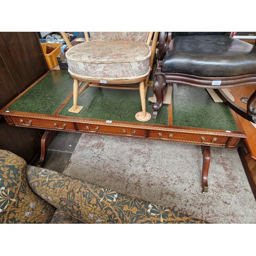
M123 128L84 123L77 123L77 127L79 131L88 133L104 133L113 135L123 135L129 137L145 137L146 135L146 132L143 129Z

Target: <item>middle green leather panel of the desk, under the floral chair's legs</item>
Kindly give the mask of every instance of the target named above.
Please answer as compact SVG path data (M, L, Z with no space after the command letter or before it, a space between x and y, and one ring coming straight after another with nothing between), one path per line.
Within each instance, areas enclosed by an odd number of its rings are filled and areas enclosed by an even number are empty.
M152 102L148 97L154 95L152 87L148 87L146 95L146 111L153 115ZM156 119L151 117L146 122L140 122L135 115L141 112L139 90L121 90L89 87L78 96L77 105L83 106L79 113L69 112L73 105L73 97L63 106L58 116L72 116L99 120L112 120L133 123L149 123L168 125L168 105L163 104Z

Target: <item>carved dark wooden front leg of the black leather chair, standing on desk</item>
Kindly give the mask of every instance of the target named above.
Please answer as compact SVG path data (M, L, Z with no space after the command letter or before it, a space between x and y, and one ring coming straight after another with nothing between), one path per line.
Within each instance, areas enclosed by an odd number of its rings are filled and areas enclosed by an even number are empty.
M157 102L152 105L153 118L157 118L158 111L163 104L164 93L166 90L166 80L163 74L156 74L153 91L156 96Z

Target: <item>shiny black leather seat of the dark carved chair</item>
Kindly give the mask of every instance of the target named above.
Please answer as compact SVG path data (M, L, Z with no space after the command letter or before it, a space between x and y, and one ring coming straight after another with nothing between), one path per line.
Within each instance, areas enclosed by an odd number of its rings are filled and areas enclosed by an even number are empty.
M162 71L198 76L256 73L256 47L221 35L178 36L170 41Z

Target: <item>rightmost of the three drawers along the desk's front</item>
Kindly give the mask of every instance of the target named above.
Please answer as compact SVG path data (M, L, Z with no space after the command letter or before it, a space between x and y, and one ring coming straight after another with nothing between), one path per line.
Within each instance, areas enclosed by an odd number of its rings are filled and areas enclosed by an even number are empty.
M189 134L189 133L177 133L177 132L159 132L150 131L150 138L160 139L164 141L176 141L192 144L202 144L202 145L226 145L228 137L225 136L215 136L207 134Z

